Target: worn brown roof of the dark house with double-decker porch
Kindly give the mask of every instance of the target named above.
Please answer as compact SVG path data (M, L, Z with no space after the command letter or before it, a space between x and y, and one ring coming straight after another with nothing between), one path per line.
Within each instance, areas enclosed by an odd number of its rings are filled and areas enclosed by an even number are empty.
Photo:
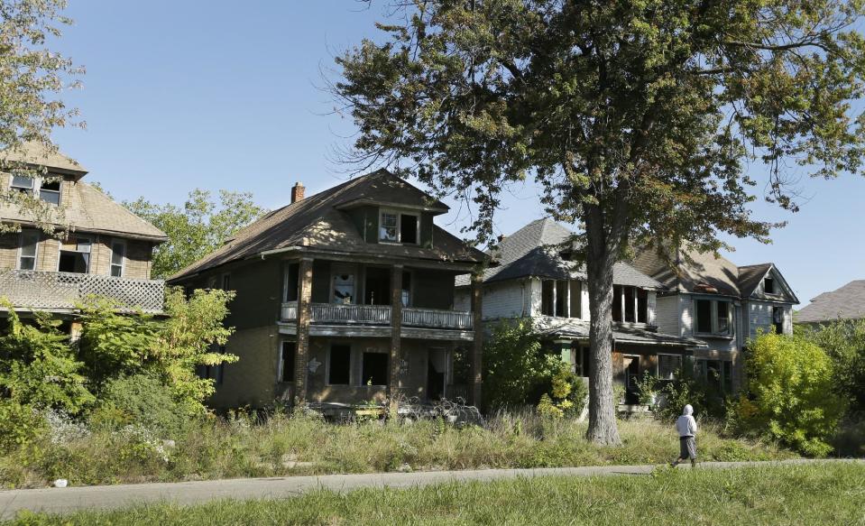
M171 277L179 280L216 266L257 254L282 250L312 250L345 254L387 255L439 262L481 263L486 256L455 235L433 226L433 247L368 243L343 208L374 199L376 203L435 208L437 201L390 171L379 170L348 180L272 211L238 232L225 245ZM432 203L430 205L430 203ZM442 207L446 206L438 203Z

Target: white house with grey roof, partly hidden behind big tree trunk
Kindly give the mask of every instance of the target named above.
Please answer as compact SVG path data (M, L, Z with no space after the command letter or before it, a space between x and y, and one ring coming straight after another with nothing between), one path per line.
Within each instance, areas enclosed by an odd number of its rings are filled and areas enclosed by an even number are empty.
M483 273L483 319L527 318L542 342L556 346L572 371L589 376L589 294L584 265L571 261L573 233L550 218L502 238L490 253L497 266ZM457 278L456 304L468 308L469 276ZM613 378L636 403L641 374L672 379L695 348L693 338L658 330L658 281L628 263L613 268Z

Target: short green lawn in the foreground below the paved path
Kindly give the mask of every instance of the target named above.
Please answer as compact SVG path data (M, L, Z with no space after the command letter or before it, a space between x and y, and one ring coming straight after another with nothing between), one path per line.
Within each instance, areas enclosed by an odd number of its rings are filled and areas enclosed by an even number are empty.
M865 466L661 469L410 489L319 491L287 500L157 504L19 524L863 524Z

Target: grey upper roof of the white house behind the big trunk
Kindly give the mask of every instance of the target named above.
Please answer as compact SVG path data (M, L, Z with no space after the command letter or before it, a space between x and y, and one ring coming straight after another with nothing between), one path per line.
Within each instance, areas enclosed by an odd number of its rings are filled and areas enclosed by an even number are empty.
M559 253L574 235L549 217L537 219L508 235L490 252L499 266L487 269L484 282L505 281L534 276L556 280L585 279L584 265L568 262ZM617 285L659 289L661 285L637 271L628 263L616 263L612 281ZM458 276L456 286L469 283L468 276Z

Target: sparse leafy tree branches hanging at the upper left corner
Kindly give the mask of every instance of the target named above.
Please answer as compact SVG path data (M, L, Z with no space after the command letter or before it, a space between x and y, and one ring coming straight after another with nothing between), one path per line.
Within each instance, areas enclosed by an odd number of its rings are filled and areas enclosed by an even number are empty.
M76 86L83 69L46 47L71 23L62 15L66 0L0 0L0 171L33 178L32 167L57 151L51 132L65 125L83 125L78 110L60 94ZM58 211L32 194L0 189L0 205L19 208L46 231L61 222ZM0 232L17 225L0 223Z

